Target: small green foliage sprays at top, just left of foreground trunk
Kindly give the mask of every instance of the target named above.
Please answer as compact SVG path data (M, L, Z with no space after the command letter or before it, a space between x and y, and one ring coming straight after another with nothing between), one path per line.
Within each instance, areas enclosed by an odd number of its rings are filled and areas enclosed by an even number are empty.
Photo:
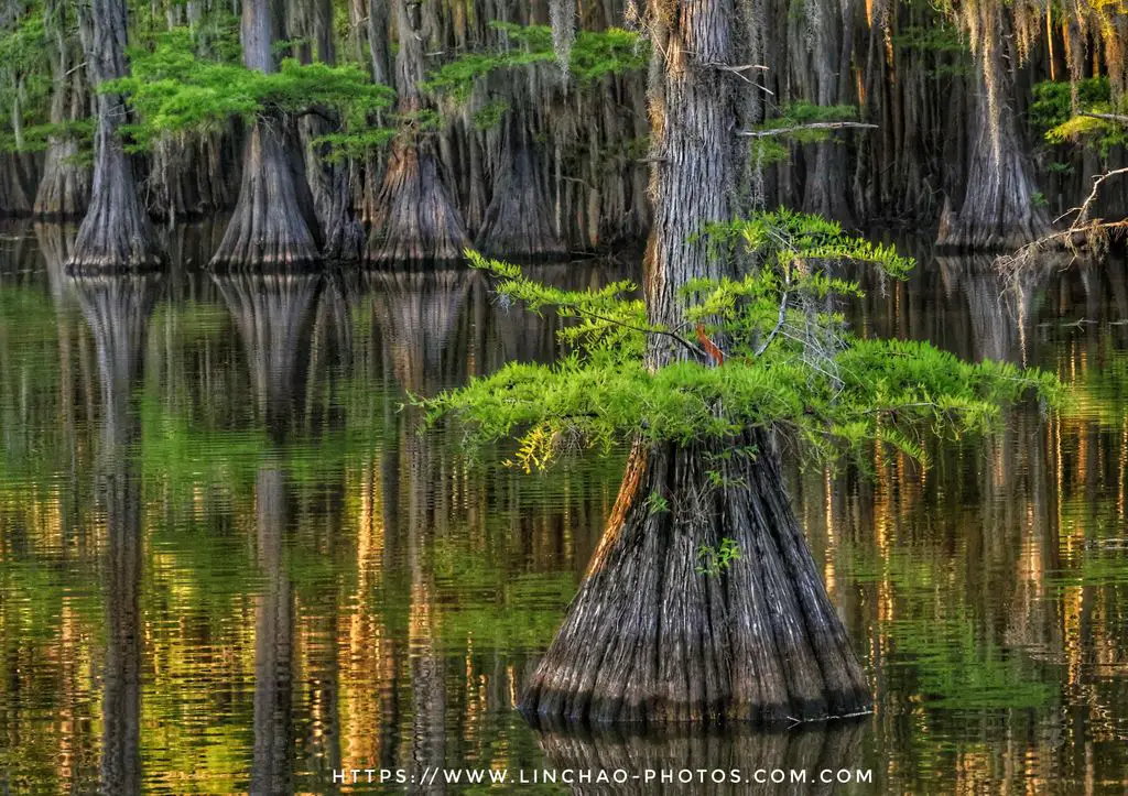
M429 91L443 94L459 100L469 98L474 82L500 69L554 63L553 32L547 25L522 27L506 23L492 23L513 44L494 53L470 53L443 64L431 74L425 85ZM646 42L636 33L622 28L580 30L572 45L569 73L580 82L598 80L607 74L644 69L650 52Z

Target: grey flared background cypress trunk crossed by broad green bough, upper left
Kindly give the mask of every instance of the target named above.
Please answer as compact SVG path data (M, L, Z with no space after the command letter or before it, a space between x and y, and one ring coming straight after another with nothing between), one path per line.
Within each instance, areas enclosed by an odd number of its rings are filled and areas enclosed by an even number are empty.
M243 3L243 60L247 69L274 72L272 0ZM292 121L258 118L247 135L243 184L213 268L309 266L320 259L321 238L306 166Z

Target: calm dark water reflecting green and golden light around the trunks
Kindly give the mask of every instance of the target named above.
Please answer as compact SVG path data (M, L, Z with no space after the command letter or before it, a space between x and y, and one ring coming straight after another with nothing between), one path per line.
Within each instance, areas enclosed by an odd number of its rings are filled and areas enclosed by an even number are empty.
M1128 791L1120 262L1047 268L999 298L985 263L920 250L911 281L872 285L856 313L866 334L1051 369L1078 396L934 446L925 475L879 456L869 477L793 472L872 718L592 737L539 734L513 704L622 456L544 476L504 452L468 467L450 432L420 434L399 408L408 390L550 360L557 321L462 271L213 277L208 230L169 236L168 274L72 278L64 230L2 231L0 794L321 793L336 768L428 766ZM581 286L631 269L538 273ZM834 788L761 788L809 789Z

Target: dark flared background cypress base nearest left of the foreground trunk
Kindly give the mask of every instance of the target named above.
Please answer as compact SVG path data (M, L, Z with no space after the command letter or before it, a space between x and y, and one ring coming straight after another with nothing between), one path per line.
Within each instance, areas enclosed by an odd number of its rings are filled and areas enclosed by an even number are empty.
M505 173L494 186L476 245L490 255L509 257L564 257L564 240L556 235L552 204L538 168L535 144L525 123L510 112L505 138Z

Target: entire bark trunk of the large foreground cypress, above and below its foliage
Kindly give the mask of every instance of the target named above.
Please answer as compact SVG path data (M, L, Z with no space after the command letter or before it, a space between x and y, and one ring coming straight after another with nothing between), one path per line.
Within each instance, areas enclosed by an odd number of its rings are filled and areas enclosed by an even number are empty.
M651 0L654 218L650 320L677 328L680 289L725 274L710 222L735 214L735 0ZM653 342L652 366L681 352ZM750 451L723 456L725 451ZM721 476L720 481L716 475ZM647 498L669 506L654 511ZM741 558L697 572L703 545ZM869 688L792 513L764 434L636 443L603 538L522 698L545 722L777 723L867 710Z

